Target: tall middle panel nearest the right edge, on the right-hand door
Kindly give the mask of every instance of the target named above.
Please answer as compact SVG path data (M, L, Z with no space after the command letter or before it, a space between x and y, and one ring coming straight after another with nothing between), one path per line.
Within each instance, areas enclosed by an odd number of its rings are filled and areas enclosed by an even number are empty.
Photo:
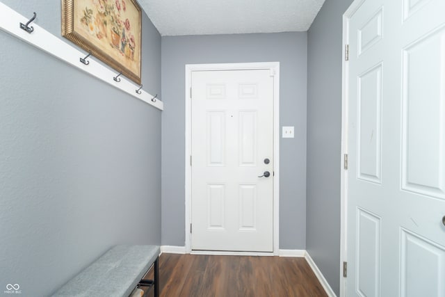
M403 49L403 189L442 199L445 198L444 67L445 29ZM426 155L428 158L423 157Z

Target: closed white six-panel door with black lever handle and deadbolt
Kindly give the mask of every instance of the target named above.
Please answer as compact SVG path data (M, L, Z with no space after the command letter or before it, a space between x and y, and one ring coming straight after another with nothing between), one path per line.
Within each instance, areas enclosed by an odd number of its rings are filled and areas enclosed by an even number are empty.
M273 75L193 71L191 86L191 248L272 252Z

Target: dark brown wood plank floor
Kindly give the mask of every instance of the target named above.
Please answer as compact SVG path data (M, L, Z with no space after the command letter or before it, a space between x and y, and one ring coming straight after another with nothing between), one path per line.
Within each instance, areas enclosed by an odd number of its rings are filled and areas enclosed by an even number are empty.
M162 254L159 274L165 297L327 296L304 258Z

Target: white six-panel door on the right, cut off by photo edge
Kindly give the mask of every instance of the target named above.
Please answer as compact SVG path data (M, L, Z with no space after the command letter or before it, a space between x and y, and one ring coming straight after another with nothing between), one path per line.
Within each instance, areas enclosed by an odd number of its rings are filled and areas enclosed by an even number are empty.
M445 1L362 1L348 39L347 294L443 297Z

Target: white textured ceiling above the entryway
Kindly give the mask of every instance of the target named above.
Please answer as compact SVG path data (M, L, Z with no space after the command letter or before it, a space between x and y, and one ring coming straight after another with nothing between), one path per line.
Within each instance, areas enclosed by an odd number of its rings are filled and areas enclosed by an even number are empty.
M139 0L163 36L307 31L325 0Z

